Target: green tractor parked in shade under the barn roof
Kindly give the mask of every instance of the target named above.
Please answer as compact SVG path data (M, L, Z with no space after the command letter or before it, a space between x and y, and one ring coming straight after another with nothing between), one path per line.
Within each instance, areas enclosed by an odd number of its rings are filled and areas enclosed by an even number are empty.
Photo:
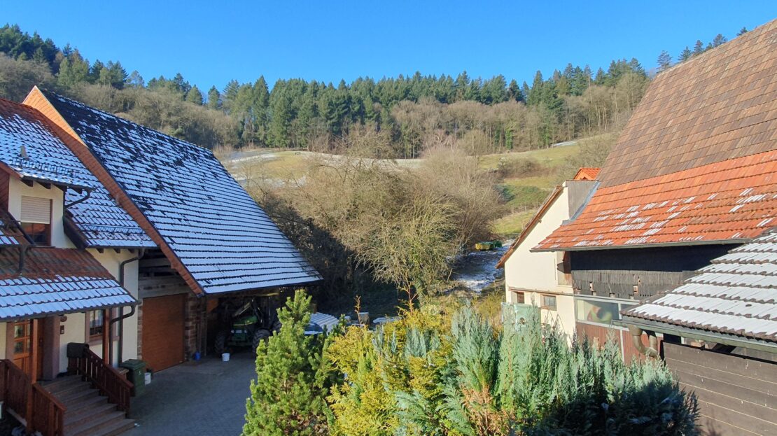
M271 304L270 298L249 298L237 305L227 301L221 303L222 322L228 328L219 331L214 340L214 351L217 354L228 353L236 347L251 347L256 354L256 347L262 340L280 330L280 320Z

